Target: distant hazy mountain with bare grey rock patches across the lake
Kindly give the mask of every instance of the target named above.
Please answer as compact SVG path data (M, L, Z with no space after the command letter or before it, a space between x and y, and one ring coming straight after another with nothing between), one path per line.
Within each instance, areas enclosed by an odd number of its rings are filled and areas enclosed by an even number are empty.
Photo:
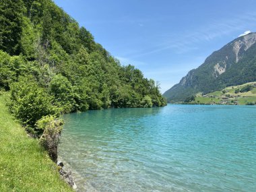
M202 92L207 94L227 86L256 81L256 33L251 32L232 40L192 69L179 84L163 96L168 102L182 102Z

